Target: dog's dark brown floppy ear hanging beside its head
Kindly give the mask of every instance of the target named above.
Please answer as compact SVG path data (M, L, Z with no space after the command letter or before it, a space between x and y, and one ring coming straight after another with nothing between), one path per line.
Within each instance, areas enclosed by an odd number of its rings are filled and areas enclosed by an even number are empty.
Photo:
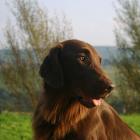
M62 45L50 50L40 67L40 75L45 82L53 88L61 88L64 85L63 71L60 63Z

